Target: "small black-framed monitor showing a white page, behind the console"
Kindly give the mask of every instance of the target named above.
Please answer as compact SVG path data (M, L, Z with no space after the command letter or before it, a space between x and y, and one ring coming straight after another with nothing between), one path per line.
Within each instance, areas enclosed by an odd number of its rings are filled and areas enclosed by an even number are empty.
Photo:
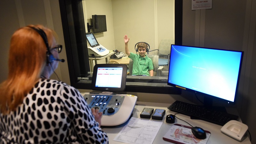
M92 90L124 91L127 66L124 64L97 64L92 75Z

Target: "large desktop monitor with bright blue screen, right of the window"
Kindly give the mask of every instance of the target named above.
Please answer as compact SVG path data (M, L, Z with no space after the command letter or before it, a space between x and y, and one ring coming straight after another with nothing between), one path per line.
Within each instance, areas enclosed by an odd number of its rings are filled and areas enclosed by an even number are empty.
M234 103L243 52L172 45L168 85Z

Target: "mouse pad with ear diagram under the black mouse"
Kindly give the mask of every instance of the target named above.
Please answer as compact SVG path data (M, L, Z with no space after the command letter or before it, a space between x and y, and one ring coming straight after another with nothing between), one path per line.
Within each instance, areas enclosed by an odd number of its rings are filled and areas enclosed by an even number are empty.
M163 139L177 144L206 144L210 138L211 132L204 130L206 132L206 139L200 140L193 135L191 128L192 127L181 124L173 124L170 130L166 132Z

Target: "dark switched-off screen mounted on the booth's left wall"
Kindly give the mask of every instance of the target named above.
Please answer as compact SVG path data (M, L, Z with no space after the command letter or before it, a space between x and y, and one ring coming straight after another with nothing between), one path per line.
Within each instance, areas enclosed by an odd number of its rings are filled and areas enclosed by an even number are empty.
M92 15L93 33L107 31L106 15Z

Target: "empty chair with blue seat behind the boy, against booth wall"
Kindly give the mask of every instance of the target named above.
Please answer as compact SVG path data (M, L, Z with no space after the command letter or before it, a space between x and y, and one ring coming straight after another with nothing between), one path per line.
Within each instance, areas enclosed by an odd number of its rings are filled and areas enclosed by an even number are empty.
M171 52L171 45L175 44L174 39L162 39L158 49L152 51L158 51L158 65L159 66L168 66L169 67L169 60L170 60L170 52ZM152 52L149 51L149 52Z

